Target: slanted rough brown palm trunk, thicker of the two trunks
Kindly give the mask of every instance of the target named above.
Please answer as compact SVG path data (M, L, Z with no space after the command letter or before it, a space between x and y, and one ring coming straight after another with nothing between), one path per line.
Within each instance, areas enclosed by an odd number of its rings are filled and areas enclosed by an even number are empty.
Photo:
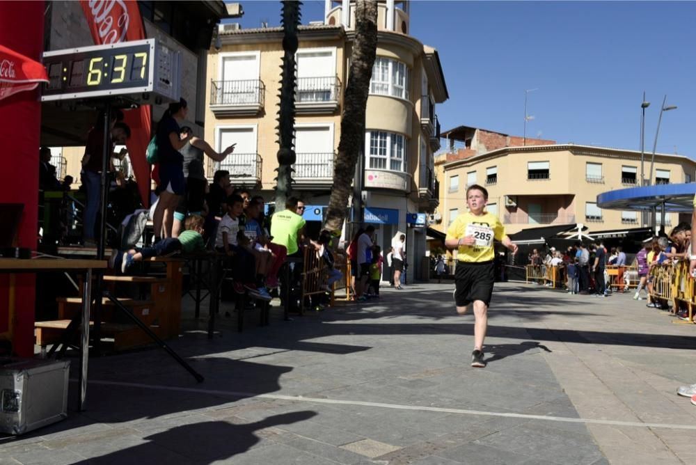
M377 1L358 0L356 3L356 32L348 85L343 97L341 139L333 164L333 187L324 225L330 231L340 231L345 221L351 182L363 148L365 107L370 93L372 65L377 55Z

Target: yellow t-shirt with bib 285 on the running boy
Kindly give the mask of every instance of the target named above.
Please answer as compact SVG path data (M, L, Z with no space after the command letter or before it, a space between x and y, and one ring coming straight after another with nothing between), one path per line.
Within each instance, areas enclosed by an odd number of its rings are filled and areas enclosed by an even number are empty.
M493 239L503 240L505 227L498 216L484 212L476 216L470 212L457 216L447 230L447 239L461 239L473 236L476 243L472 246L459 246L457 260L460 262L489 262L495 258Z

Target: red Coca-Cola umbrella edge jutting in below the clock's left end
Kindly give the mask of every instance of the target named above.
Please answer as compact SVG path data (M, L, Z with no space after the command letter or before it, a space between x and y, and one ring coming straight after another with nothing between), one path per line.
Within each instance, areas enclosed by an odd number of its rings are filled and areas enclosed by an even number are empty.
M0 100L48 82L46 68L38 61L0 45Z

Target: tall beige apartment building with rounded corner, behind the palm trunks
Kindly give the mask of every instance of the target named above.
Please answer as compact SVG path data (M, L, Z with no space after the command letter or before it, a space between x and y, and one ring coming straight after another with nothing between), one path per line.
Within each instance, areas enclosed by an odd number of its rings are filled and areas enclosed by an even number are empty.
M425 255L427 214L438 205L434 151L440 148L435 105L448 98L436 49L409 36L409 1L380 1L377 59L365 130L365 221L388 247L406 233L409 269ZM319 228L333 183L340 141L343 93L354 42L351 1L325 2L322 22L299 27L296 52L294 189L308 204L310 226ZM267 200L274 197L283 29L241 29L225 24L207 59L205 139L217 149L236 143L216 169L230 171L232 184Z

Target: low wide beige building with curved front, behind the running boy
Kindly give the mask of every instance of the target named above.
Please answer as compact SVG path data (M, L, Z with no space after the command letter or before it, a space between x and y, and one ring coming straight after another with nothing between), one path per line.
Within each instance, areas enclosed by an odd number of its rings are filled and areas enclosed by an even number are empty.
M466 209L466 187L471 184L486 187L488 210L500 217L509 234L553 224L583 223L590 235L593 231L641 226L638 212L602 210L596 204L603 192L640 185L638 151L556 143L507 146L480 153L466 150L473 153L438 156L442 181L433 228L445 231ZM645 156L646 181L650 157ZM656 154L650 181L692 182L695 171L696 162L688 157ZM667 230L677 225L678 216L665 214ZM661 223L660 212L656 223Z

